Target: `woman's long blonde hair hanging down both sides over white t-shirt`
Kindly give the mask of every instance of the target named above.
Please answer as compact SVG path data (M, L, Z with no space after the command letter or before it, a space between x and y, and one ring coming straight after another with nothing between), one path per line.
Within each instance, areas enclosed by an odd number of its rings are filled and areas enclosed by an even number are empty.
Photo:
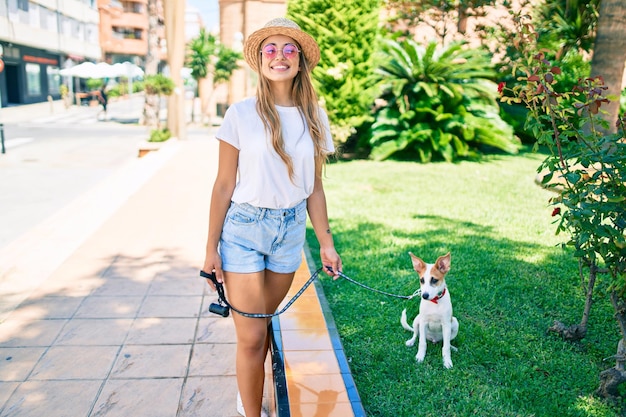
M289 178L294 179L293 161L289 154L285 151L285 141L283 139L282 128L280 125L280 116L276 110L270 82L263 76L261 71L261 60L258 61L257 73L259 74L259 82L257 85L257 103L256 109L259 116L263 120L265 129L270 135L272 146L287 166ZM311 82L308 62L304 54L300 55L300 71L293 80L291 87L291 97L294 104L300 111L300 115L304 118L309 128L309 134L313 139L314 156L315 156L315 175L321 176L322 168L326 163L328 149L326 149L326 137L324 125L320 116L320 108L317 102L317 94Z

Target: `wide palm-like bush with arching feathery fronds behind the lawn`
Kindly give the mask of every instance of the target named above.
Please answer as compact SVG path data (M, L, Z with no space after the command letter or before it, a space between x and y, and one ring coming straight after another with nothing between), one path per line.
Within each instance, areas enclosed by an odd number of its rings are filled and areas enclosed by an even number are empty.
M487 145L516 153L520 142L499 115L498 87L489 56L452 43L387 40L379 68L384 104L372 126L370 156L394 154L453 161Z

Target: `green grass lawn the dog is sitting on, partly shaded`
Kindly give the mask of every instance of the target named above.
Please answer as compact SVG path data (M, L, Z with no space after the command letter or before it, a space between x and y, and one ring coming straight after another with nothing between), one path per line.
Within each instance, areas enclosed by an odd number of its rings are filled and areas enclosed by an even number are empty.
M325 189L344 273L381 290L419 285L408 251L434 262L450 251L446 279L459 335L454 367L441 345L426 359L404 342L419 300L323 279L368 416L615 416L593 397L619 340L612 307L598 297L579 343L547 329L580 321L578 264L555 235L552 194L534 183L537 154L458 164L349 161L330 164ZM311 229L308 244L318 260Z

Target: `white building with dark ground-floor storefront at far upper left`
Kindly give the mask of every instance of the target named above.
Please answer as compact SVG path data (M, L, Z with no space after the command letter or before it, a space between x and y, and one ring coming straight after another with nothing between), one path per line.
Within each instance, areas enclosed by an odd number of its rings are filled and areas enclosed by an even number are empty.
M96 0L1 1L0 105L60 98L59 71L101 56L98 21Z

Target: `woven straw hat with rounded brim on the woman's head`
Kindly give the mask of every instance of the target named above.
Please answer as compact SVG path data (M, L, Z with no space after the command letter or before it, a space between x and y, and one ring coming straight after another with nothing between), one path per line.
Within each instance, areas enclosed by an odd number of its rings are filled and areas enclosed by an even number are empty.
M272 35L285 35L295 40L299 49L306 57L309 70L312 70L319 62L320 48L315 39L302 31L296 22L284 17L278 17L267 22L265 26L253 32L246 39L243 46L243 56L252 69L256 70L258 68L261 43Z

